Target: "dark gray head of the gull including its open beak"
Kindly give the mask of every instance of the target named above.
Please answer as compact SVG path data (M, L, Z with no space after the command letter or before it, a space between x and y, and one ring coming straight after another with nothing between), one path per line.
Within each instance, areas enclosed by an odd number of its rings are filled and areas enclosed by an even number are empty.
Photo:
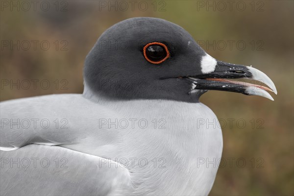
M132 18L111 26L99 37L86 57L84 80L91 94L118 99L197 102L207 90L269 98L267 87L256 91L247 83L214 79L262 79L276 91L269 77L263 73L257 78L255 71L217 61L178 25L158 18Z

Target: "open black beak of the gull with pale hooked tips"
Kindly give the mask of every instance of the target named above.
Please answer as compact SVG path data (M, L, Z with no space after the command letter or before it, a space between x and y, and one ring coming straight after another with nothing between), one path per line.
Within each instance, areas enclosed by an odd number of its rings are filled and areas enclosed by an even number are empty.
M235 65L216 61L215 69L210 73L186 77L193 82L194 89L218 90L257 95L273 100L267 91L277 94L276 87L271 79L263 72L244 65ZM234 80L231 80L234 79ZM252 79L266 86L238 81L236 79ZM193 90L192 90L193 91Z

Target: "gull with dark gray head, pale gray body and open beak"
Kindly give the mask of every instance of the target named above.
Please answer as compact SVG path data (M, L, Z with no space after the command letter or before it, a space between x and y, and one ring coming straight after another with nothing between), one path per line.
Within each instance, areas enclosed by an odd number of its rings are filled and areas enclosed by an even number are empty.
M218 122L200 96L277 94L265 73L219 61L150 17L105 30L83 77L82 94L0 102L0 195L208 195L218 166L207 163L223 141L220 127L199 123Z

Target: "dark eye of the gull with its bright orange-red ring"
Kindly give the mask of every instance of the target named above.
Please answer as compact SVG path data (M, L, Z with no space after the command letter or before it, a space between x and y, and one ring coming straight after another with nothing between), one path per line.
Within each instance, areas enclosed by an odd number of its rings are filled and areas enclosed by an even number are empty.
M159 64L170 56L170 52L166 45L152 42L144 47L144 56L150 63Z

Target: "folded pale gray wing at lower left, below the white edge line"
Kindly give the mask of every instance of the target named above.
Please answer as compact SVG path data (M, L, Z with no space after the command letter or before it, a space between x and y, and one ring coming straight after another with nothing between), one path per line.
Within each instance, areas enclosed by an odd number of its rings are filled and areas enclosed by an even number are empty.
M64 147L32 144L0 157L1 196L118 195L131 184L116 162Z

